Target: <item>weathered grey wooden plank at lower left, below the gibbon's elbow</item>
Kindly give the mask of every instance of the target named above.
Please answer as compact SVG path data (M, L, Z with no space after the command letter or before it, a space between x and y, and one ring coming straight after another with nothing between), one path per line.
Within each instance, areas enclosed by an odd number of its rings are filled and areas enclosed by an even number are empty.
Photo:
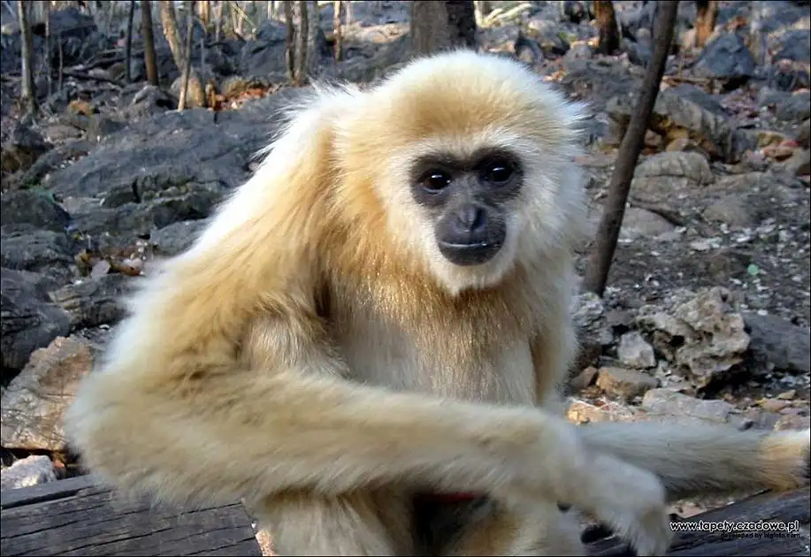
M262 555L240 504L179 512L123 500L88 477L4 492L0 526L4 557Z

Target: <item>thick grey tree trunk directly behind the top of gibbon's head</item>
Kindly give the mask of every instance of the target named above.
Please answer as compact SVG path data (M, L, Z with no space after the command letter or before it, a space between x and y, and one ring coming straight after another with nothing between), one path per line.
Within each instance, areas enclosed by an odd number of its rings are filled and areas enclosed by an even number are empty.
M411 49L414 55L455 48L476 48L476 9L472 0L412 2Z

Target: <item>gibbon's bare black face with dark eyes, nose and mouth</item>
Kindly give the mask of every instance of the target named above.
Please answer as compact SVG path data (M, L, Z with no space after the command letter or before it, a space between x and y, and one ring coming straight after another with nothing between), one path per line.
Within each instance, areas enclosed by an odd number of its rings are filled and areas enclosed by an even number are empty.
M499 252L507 237L505 202L522 181L518 157L503 149L423 156L411 171L412 194L434 217L440 253L456 265L486 263Z

